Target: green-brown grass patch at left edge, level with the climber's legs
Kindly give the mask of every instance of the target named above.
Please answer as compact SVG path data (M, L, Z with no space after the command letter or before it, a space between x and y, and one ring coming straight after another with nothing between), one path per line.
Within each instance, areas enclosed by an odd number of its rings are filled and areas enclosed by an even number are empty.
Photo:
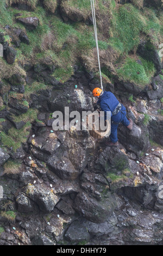
M27 124L24 125L20 130L17 130L15 127L11 127L8 134L1 132L0 138L2 147L12 148L12 150L15 152L21 147L22 143L27 141L31 127L32 125L27 122Z

